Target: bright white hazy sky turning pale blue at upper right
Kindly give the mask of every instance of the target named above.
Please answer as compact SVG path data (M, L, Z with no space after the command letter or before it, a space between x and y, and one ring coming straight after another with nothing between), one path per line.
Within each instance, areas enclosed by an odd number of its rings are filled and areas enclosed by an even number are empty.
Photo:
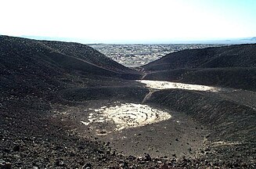
M86 42L256 36L256 0L1 0L0 34Z

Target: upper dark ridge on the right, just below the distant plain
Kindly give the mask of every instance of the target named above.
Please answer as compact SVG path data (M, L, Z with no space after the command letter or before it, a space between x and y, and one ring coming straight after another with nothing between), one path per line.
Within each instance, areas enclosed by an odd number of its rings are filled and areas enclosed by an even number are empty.
M143 66L144 70L175 70L215 67L256 67L255 45L230 45L187 49L170 53Z

